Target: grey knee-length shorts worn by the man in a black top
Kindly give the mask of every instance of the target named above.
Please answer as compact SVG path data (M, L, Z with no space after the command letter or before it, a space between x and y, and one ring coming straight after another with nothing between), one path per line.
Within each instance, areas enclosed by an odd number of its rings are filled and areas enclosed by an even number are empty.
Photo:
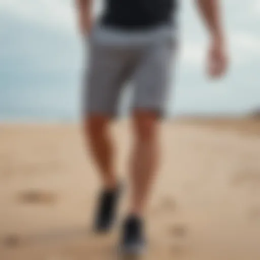
M124 32L96 26L88 39L88 68L84 81L84 115L116 116L121 90L131 83L132 109L164 114L174 29L169 26Z

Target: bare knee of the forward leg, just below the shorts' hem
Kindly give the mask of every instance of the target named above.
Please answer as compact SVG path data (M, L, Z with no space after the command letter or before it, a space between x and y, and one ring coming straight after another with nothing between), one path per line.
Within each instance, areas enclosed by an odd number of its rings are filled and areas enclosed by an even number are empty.
M137 140L151 142L157 135L157 115L153 112L136 112L134 115L134 131Z

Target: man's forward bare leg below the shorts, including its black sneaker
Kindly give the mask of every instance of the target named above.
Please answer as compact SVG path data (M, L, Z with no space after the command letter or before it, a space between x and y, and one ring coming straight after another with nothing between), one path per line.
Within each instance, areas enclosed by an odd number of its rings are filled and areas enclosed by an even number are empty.
M131 204L123 223L120 248L126 254L145 249L144 210L158 163L158 113L138 109L133 115L134 146L131 154Z

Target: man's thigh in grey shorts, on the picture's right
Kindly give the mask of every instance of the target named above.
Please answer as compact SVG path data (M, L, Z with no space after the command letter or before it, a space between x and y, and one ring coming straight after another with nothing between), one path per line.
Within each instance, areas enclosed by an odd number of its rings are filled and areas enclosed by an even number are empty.
M134 75L133 109L164 113L175 48L169 39L150 46L142 55Z

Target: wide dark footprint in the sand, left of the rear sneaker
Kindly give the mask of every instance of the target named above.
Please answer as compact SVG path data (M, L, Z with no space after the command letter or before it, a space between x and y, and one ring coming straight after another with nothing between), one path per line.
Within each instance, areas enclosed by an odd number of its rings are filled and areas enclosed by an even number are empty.
M22 191L17 198L23 204L55 204L57 200L56 194L42 190Z

